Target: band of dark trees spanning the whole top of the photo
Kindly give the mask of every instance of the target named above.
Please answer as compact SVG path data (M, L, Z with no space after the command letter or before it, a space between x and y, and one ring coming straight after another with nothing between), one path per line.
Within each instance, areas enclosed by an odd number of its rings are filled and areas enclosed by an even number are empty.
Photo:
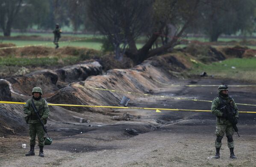
M4 36L34 25L49 29L59 23L74 31L82 26L105 35L117 59L125 54L142 62L172 49L187 33L206 34L210 41L252 33L255 11L255 0L0 0L0 26Z

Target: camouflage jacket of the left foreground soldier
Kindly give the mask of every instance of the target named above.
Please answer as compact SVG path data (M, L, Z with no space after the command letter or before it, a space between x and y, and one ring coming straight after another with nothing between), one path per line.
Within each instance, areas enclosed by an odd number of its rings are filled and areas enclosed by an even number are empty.
M44 124L47 122L47 118L50 114L49 106L45 99L41 98L39 100L34 100L35 107L38 110L39 116L41 117L42 121ZM32 107L32 102L31 99L28 99L26 101L26 104L23 108L23 112L29 116L29 123L35 124L35 123L40 123L39 120L37 119L36 113Z

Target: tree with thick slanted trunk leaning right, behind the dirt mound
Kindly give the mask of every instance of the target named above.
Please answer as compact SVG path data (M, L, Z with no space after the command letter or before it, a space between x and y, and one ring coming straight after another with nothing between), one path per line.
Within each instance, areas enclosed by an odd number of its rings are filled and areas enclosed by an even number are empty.
M126 54L136 62L142 62L148 57L162 54L179 44L179 39L185 29L193 22L199 2L199 0L156 0L154 3L155 26L152 29L149 40L137 52L128 50ZM171 31L165 29L170 24ZM170 32L172 32L171 36L169 35ZM162 37L162 45L152 48L158 37Z

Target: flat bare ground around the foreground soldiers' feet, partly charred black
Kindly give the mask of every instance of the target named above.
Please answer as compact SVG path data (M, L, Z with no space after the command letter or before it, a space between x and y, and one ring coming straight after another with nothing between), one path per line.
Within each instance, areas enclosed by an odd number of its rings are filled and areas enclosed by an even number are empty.
M247 85L231 80L194 79L197 85ZM171 84L187 85L191 80L175 80ZM256 87L230 87L237 103L254 104ZM163 84L153 90L156 95L212 100L217 87L172 87ZM210 110L210 102L165 99L158 96L139 97L129 106L147 108L179 108ZM255 107L238 105L239 110L256 111ZM60 109L61 110L61 109ZM29 137L0 138L0 166L3 167L255 167L255 113L240 113L239 134L234 134L236 160L229 159L227 140L223 139L221 159L215 154L215 116L209 112L115 109L115 113L140 115L140 119L114 121L111 115L88 113L90 123L51 122L48 125L53 144L44 147L45 157L25 157ZM139 135L129 134L132 128Z

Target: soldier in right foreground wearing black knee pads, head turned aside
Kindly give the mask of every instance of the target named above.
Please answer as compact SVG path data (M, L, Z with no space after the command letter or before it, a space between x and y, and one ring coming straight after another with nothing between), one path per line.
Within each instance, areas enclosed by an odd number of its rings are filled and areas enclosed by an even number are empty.
M215 97L212 101L212 109L211 112L216 116L216 131L215 135L217 139L215 140L215 148L216 155L215 159L220 158L220 149L221 149L221 139L226 133L227 136L227 144L230 148L230 158L236 159L234 154L234 142L233 142L233 134L234 128L232 123L227 119L230 113L225 112L224 108L230 107L233 108L234 113L232 113L232 118L234 119L235 124L238 122L238 108L234 102L234 100L228 95L228 85L220 85L218 87L218 97Z

